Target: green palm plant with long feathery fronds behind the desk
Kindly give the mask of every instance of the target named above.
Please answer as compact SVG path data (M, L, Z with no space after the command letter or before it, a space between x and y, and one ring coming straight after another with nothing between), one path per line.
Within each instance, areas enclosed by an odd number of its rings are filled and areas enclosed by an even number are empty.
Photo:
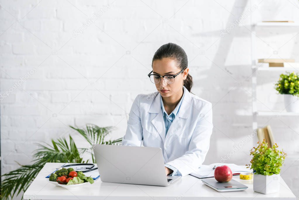
M20 165L21 167L1 176L4 180L1 182L0 199L12 199L21 192L25 192L33 179L43 168L45 163L87 163L89 160L83 160L83 154L90 154L92 162L95 163L92 146L95 144L117 145L121 143L122 138L117 140L105 140L105 137L111 132L112 127L98 127L97 125L87 124L86 128L79 129L70 126L76 130L80 136L91 145L87 148L77 148L71 135L66 138L51 140L50 144L36 144L39 149L33 154L32 165Z

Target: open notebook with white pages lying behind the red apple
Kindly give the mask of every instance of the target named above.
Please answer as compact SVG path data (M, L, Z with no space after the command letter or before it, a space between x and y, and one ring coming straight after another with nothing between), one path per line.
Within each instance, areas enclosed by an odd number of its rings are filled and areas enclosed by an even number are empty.
M214 177L214 169L213 167L216 165L216 167L218 166L222 166L222 165L227 165L229 168L231 168L231 171L233 172L233 175L239 175L242 172L248 172L248 173L252 173L253 170L246 168L246 166L240 166L240 165L236 165L236 164L232 164L232 163L213 163L210 165L202 165L200 168L198 168L196 170L196 172L191 173L191 176L194 176L196 178L212 178ZM215 168L216 168L215 167Z

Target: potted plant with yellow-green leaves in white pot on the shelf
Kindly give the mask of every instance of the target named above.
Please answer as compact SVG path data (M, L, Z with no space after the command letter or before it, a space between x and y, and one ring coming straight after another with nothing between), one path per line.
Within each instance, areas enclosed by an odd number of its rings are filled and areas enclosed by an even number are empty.
M283 94L287 112L299 113L299 78L294 72L281 74L275 84L278 93Z

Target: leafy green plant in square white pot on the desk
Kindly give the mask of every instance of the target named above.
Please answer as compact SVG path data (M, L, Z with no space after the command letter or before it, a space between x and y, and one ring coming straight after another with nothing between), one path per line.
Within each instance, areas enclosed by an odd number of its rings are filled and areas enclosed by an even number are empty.
M253 190L258 193L271 194L279 191L280 167L282 166L286 153L283 150L277 150L277 144L268 147L268 143L263 140L257 143L257 147L251 149L250 155L253 156L250 161L253 169Z

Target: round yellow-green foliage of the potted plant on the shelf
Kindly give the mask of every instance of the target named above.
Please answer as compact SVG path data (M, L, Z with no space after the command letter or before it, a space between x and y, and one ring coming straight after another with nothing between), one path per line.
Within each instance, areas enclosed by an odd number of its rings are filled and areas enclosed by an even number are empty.
M299 78L294 72L281 74L279 81L275 84L275 89L280 94L291 94L299 97Z

